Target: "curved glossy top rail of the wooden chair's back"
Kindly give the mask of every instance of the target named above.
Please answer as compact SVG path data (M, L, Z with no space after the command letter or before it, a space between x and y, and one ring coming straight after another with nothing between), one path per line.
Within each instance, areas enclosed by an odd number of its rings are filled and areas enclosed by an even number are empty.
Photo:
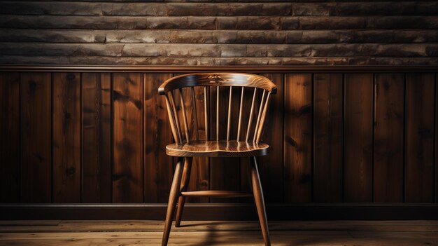
M165 95L171 90L193 86L241 86L267 90L275 94L277 87L269 78L244 73L196 73L175 76L164 81L158 92Z

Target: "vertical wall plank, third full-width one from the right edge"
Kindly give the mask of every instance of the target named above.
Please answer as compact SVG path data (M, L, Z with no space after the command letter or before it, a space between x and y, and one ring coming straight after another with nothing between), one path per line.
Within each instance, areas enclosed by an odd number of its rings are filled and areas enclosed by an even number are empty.
M344 201L372 202L373 74L345 74Z

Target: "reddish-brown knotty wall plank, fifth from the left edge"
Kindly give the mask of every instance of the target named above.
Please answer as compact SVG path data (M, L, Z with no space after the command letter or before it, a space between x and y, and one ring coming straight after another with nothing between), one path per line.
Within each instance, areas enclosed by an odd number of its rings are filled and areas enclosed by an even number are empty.
M143 202L143 74L113 74L113 202Z

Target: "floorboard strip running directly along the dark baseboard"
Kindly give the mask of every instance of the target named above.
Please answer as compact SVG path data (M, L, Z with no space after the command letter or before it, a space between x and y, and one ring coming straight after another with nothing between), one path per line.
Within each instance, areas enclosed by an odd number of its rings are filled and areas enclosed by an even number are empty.
M214 224L214 226L212 226ZM87 237L87 233L99 233L96 236L102 236L106 233L136 233L141 237L146 232L156 232L158 237L161 236L160 231L164 221L162 220L143 220L143 219L120 219L120 220L13 220L0 221L0 231L2 238L18 239L23 236L29 238L43 238L42 236L60 237L64 233L78 233L83 237ZM237 233L243 236L243 233L255 231L260 233L260 225L256 220L252 221L185 221L186 226L178 228L178 232L183 233L199 233L199 232L223 232ZM297 236L316 238L327 236L339 236L341 232L344 235L353 233L397 233L400 237L404 235L421 235L430 233L430 237L436 237L438 230L438 221L436 220L283 220L269 221L271 226L272 236L281 235L286 238L294 238ZM178 233L174 231L174 233ZM283 233L281 233L283 232ZM347 233L348 232L348 233ZM32 233L38 233L35 235ZM57 234L59 233L59 234ZM138 234L137 234L138 233ZM281 233L281 234L276 234ZM52 234L52 235L50 235ZM426 234L423 234L426 236ZM178 236L179 237L179 236Z

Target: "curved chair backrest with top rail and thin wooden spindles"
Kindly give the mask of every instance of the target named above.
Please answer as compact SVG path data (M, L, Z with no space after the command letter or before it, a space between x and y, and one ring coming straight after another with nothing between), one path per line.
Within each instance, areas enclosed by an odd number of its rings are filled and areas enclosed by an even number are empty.
M166 96L167 113L176 144L203 139L258 144L267 116L269 97L276 93L276 86L268 78L255 74L198 73L169 78L158 91ZM200 104L199 100L203 103ZM223 115L226 108L227 116ZM211 111L216 114L215 117ZM225 119L226 137L225 130L221 132L220 127L223 125L225 128ZM216 130L211 125L216 125ZM200 130L204 131L202 139Z

